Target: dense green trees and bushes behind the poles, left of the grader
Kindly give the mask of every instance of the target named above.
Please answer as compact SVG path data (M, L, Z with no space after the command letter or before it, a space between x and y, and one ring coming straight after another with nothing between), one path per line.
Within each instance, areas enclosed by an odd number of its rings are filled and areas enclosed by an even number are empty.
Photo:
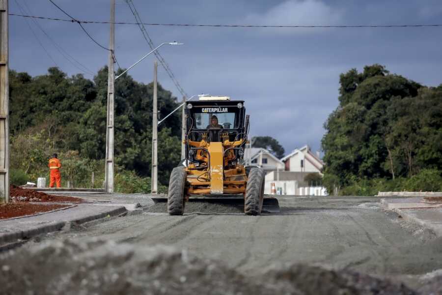
M103 187L97 163L106 153L107 75L107 67L93 81L83 75L68 77L56 67L36 77L10 71L11 167L22 169L31 180L48 178L47 160L57 152L63 164L62 185L69 180L76 187ZM151 174L152 99L153 83L138 83L127 74L116 81L115 164L139 177ZM160 118L177 105L159 84ZM179 112L159 126L159 180L165 185L180 161L180 129Z

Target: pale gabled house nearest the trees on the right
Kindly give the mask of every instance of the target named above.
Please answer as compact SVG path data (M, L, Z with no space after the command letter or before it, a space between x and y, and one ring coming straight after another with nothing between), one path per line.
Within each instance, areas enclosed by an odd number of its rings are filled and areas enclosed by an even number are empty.
M324 162L319 158L319 152L314 154L309 146L297 148L281 159L285 171L300 173L319 173L322 175Z

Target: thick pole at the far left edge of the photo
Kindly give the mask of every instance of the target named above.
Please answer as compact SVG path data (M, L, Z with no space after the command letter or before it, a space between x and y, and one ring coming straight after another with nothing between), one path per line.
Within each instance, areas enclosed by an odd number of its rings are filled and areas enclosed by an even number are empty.
M8 0L0 0L0 203L9 202Z

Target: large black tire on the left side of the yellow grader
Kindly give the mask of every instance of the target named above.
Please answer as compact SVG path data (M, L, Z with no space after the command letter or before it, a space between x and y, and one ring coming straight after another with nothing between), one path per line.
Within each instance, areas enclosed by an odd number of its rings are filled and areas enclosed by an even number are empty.
M173 168L170 174L169 191L167 194L167 212L169 215L183 215L186 200L184 190L187 172L184 167Z

